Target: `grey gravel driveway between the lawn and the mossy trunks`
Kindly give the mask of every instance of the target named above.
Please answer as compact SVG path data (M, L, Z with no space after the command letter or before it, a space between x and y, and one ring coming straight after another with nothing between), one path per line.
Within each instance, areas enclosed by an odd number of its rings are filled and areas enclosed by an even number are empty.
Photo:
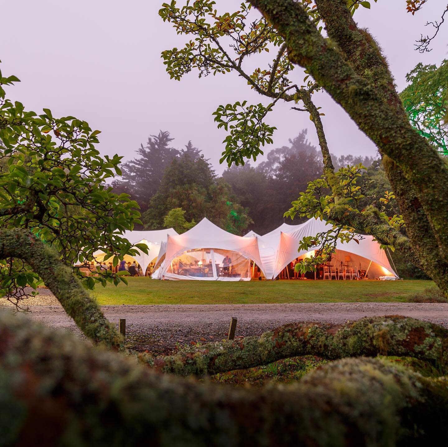
M159 352L176 343L221 340L231 317L238 318L236 335L258 335L288 322L344 323L364 316L405 315L448 328L448 304L420 303L300 303L246 305L118 305L103 306L112 322L126 318L127 340L138 349ZM30 306L30 318L49 326L80 331L60 306Z

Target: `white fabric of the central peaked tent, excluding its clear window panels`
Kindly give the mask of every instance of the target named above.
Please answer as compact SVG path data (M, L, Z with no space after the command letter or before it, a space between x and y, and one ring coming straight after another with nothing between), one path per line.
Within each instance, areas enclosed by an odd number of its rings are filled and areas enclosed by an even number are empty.
M213 269L213 274L209 276L192 276L179 275L173 272L172 263L176 258L181 256L194 257L195 251L207 250L207 259L210 258L210 265ZM187 254L187 252L189 252ZM250 279L248 277L228 277L220 276L217 273L216 265L224 254L233 252L233 258L239 257L241 262L247 261L249 267L249 260L253 260L259 266L262 265L260 253L258 249L257 237L241 237L231 234L215 224L212 224L208 219L202 219L197 225L187 232L172 236L168 235L166 245L161 247L159 258L156 262L155 268L160 267L159 278L163 279L201 279L201 280L225 280L238 281L241 279ZM202 254L202 256L205 256ZM250 268L246 269L250 271Z

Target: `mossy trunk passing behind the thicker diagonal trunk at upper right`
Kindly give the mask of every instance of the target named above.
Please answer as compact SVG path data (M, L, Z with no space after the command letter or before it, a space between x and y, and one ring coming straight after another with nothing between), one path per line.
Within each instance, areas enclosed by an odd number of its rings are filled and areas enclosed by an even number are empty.
M408 120L395 89L388 63L372 36L357 26L349 9L342 2L318 0L317 5L328 36L338 45L345 61L375 88L381 99L392 107L398 116ZM397 195L406 230L412 242L414 258L416 253L419 259L416 265L441 283L442 290L448 290L444 263L440 263L439 259L434 257L434 253L438 251L435 233L426 218L415 188L409 184L397 163L387 155L383 156L383 166ZM422 235L425 235L425 244L420 243ZM415 264L412 258L408 259Z

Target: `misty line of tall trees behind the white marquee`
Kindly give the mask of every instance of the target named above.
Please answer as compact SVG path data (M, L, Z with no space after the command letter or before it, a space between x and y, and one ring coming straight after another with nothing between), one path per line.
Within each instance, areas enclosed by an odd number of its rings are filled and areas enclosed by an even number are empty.
M151 135L137 157L124 163L122 177L112 185L138 202L145 229L164 228L164 218L174 208L185 211L187 222L207 217L234 234L249 229L264 234L284 222L283 213L322 172L322 156L306 139L306 130L268 152L256 166L232 166L217 176L202 151L189 141L185 149L172 146L168 131ZM338 167L363 163L372 157L342 155ZM297 221L299 222L299 221Z

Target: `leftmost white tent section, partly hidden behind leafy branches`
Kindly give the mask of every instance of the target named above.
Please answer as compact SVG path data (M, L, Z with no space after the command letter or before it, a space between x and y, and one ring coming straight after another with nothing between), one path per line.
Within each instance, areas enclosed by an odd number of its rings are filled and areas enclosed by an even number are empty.
M123 237L125 237L131 244L146 244L148 247L148 253L143 253L141 250L138 250L138 254L134 256L125 256L125 260L135 259L143 272L146 272L146 268L150 264L150 262L155 261L155 259L159 256L160 246L164 241L166 241L167 236L176 236L178 233L173 228L167 228L165 230L151 230L151 231L138 231L138 230L127 230ZM95 259L99 262L108 262L107 259L104 259L104 252L97 251L94 253Z

